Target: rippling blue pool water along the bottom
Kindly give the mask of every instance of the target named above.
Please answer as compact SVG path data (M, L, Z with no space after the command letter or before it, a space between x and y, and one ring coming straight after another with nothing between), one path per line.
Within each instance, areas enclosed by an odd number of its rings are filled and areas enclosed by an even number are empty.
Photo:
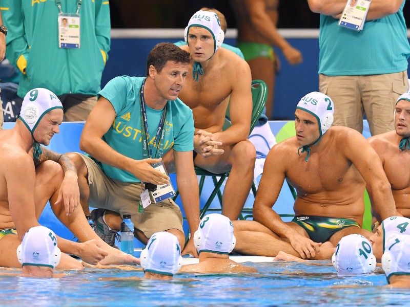
M409 289L386 288L384 274L337 277L330 261L245 262L259 273L187 274L145 280L138 271L85 269L60 279L0 276L1 306L408 306ZM313 264L325 264L316 266ZM0 273L3 272L0 270ZM6 272L6 271L4 271ZM116 280L109 280L115 277ZM134 280L130 280L134 278ZM135 278L137 278L135 280ZM140 278L140 279L139 279Z

